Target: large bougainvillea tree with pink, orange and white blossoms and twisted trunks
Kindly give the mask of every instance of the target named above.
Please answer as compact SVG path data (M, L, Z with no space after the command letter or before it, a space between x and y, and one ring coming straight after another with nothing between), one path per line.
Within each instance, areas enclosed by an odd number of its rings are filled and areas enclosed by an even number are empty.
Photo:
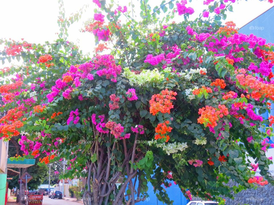
M171 181L190 199L223 204L220 196L272 183L274 116L260 114L274 100L274 47L221 25L235 0L204 1L194 21L186 0L140 1L140 19L131 3L93 2L82 28L95 36L92 56L67 41L79 13L63 9L56 42L1 40L4 65L23 60L0 71L1 138L20 136L24 157L46 154L40 163L68 160L63 177L87 178L86 204L135 204L148 182L172 204Z

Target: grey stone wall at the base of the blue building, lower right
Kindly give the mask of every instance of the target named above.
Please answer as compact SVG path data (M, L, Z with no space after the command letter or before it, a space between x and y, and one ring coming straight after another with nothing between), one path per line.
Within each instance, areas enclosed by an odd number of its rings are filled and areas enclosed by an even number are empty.
M230 186L237 186L235 182L229 182ZM234 199L225 198L226 205L274 205L274 186L268 184L257 189L247 189L234 195Z

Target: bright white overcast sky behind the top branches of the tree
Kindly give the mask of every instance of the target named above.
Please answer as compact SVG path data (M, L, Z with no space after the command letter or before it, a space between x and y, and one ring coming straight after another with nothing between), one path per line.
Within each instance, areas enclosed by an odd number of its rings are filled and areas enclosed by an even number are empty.
M120 0L116 2L121 6L128 6L130 1ZM136 8L139 8L140 1L132 1ZM152 0L149 1L149 4L153 8L156 3L160 4L160 2ZM92 0L64 0L64 4L67 16L71 13L76 13L83 5L89 5L79 22L70 26L68 40L77 43L84 53L92 52L94 50L93 35L91 33L82 33L79 30L83 28L85 20L93 17L93 10L97 6L92 3ZM240 28L273 5L267 1L241 0L233 4L234 12L227 13L226 21L233 20L237 27ZM203 0L193 0L189 6L194 8L195 13L193 17L197 16L205 8ZM57 0L3 0L0 4L0 38L11 38L13 40L24 38L29 43L51 42L57 38L55 33L59 32L58 16L59 5ZM180 18L183 19L183 17L176 17L176 21L180 21Z

